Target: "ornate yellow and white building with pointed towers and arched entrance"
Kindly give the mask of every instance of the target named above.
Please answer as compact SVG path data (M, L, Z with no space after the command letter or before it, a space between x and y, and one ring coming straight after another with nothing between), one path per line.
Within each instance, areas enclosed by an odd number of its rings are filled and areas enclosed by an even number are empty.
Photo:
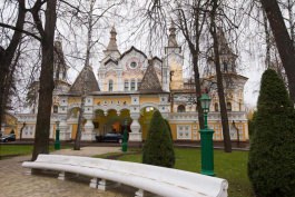
M176 29L169 29L168 45L163 58L148 57L131 47L120 52L115 28L104 51L98 72L86 66L72 85L67 82L68 66L65 62L61 42L55 43L53 105L50 138L55 138L56 121L60 121L60 139L76 138L81 96L85 95L83 130L81 140L95 140L96 135L122 132L127 121L130 141L146 139L154 110L159 110L171 127L174 140L199 140L198 114L196 111L194 80L183 77L184 57L176 40ZM232 140L247 141L248 126L244 106L246 77L235 70L236 55L222 41L222 65L226 87L226 104ZM214 67L208 61L209 67ZM209 68L208 67L208 68ZM220 111L216 91L216 76L208 69L203 86L210 87L209 127L215 130L214 140L223 140ZM96 79L96 76L98 80ZM38 82L36 82L38 85ZM33 138L37 105L31 114L18 114L17 136L22 130L22 139ZM23 124L26 122L26 124Z

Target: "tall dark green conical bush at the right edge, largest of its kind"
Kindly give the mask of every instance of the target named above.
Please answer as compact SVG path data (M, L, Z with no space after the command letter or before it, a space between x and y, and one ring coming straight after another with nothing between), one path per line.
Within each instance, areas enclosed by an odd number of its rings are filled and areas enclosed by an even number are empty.
M274 70L266 70L248 159L248 176L257 197L295 196L294 120L284 82Z

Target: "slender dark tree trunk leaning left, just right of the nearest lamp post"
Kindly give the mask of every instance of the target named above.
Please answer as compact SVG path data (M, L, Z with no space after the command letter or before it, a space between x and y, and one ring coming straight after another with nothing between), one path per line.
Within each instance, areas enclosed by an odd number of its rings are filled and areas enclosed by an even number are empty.
M213 37L213 47L214 47L214 61L216 69L216 78L217 78L217 91L219 98L220 106L220 116L222 116L222 125L223 125L223 135L224 135L224 150L225 152L232 152L232 141L229 136L229 127L228 127L228 117L227 109L225 104L225 93L224 93L224 83L223 83L223 73L220 69L220 59L219 59L219 49L218 49L218 38L216 32L216 9L218 4L217 1L213 1L213 10L210 11L210 35Z

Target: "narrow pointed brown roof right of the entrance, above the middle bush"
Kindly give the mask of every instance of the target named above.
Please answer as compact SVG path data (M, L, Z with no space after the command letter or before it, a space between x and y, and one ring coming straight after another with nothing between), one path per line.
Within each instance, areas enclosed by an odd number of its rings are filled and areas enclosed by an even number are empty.
M142 92L163 91L160 81L153 65L153 60L149 60L148 63L148 68L138 90Z

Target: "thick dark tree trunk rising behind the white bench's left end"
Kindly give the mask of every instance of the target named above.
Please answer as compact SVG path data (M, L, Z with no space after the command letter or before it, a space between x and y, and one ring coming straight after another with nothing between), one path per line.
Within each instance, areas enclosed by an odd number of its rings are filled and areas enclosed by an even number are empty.
M53 83L53 40L57 21L57 0L47 1L46 24L41 33L42 61L40 73L39 106L36 124L32 160L39 154L49 152L50 115L52 106ZM40 31L40 30L39 30Z

